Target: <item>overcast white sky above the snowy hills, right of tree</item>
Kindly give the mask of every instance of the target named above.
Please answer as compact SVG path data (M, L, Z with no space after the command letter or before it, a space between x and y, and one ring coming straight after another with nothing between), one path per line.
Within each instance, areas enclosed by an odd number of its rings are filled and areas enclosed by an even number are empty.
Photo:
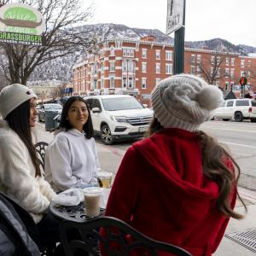
M85 0L82 0L85 6ZM88 24L115 23L166 32L167 0L90 0ZM186 0L185 40L223 38L256 47L256 0ZM174 33L170 34L174 37Z

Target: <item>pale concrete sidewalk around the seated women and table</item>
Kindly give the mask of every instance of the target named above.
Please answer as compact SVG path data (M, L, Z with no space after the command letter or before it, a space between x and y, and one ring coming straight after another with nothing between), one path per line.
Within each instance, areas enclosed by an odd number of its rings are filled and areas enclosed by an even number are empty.
M39 123L38 141L49 143L52 139L53 133L44 131L44 124ZM125 151L112 148L111 146L102 145L100 143L96 143L96 148L102 169L115 173L118 170L119 163L122 160ZM234 218L230 219L228 228L225 231L225 236L221 241L217 252L213 254L214 256L256 256L256 252L253 253L253 251L247 249L247 247L244 247L236 241L232 241L230 238L226 237L232 236L235 232L245 232L249 229L253 229L255 235L252 238L252 243L254 251L256 251L256 191L239 188L239 193L241 198L246 202L248 212L245 215L245 218L241 220L236 220ZM236 202L236 211L243 213L243 207L241 206L241 202L238 200Z

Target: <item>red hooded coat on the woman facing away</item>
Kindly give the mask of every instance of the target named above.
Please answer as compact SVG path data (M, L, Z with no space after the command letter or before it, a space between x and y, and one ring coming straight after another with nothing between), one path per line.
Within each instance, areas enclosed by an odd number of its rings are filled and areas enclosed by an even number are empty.
M119 166L106 215L194 256L212 255L229 218L218 211L218 184L203 174L201 163L194 132L167 128L134 143ZM234 172L230 160L226 165ZM236 188L232 208L235 202Z

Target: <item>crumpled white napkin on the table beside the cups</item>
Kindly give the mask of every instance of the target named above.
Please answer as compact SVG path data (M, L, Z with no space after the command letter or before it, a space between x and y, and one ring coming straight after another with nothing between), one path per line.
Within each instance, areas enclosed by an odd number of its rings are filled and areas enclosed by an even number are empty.
M81 201L84 201L84 193L82 189L67 189L55 195L52 201L61 206L78 206Z

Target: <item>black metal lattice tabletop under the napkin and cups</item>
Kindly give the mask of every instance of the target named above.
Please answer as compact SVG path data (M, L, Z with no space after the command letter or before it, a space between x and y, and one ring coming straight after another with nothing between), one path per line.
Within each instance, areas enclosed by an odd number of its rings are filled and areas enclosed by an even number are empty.
M85 214L84 202L81 202L78 206L65 207L58 205L52 201L49 205L49 212L53 214L55 218L60 218L62 220L71 220L74 222L84 222L90 218L101 217L104 214L105 209L100 209L100 215L96 217L89 217Z

